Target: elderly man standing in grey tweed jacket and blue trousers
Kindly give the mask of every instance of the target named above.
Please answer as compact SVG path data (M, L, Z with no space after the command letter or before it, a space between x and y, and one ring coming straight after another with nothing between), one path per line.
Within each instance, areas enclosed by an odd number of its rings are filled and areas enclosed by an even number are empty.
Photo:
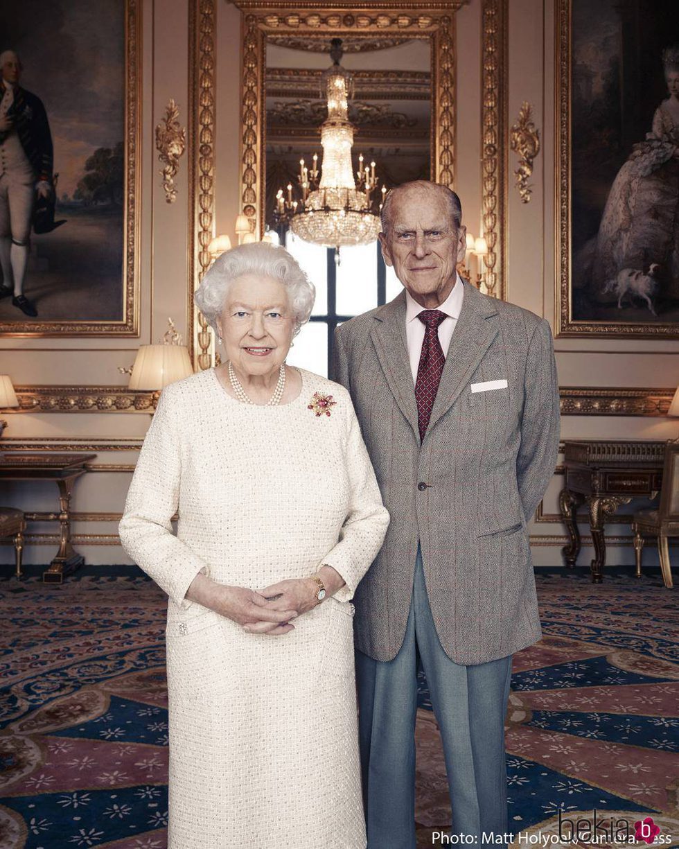
M382 256L404 290L341 325L345 385L389 531L356 593L368 849L414 849L421 664L446 756L452 830L507 832L503 719L512 653L540 638L526 524L558 450L549 324L457 275L457 194L387 195Z

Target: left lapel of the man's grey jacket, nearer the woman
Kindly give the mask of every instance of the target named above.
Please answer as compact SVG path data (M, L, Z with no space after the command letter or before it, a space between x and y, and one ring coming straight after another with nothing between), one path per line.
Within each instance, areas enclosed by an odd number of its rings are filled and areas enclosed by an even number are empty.
M406 290L375 313L371 338L384 377L419 441L418 405L406 341Z

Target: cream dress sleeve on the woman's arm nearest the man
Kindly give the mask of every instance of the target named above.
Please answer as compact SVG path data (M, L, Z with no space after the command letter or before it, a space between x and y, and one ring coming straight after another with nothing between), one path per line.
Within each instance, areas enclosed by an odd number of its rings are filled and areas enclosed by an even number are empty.
M349 508L340 531L340 541L323 558L323 564L332 566L345 580L345 586L334 594L334 598L349 601L384 542L389 513L382 503L351 396L343 392L342 397L348 411L345 464L349 479Z

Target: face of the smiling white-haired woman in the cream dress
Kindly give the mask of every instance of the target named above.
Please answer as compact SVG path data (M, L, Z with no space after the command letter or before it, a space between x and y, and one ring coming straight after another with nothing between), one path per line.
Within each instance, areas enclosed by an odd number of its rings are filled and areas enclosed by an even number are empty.
M219 321L225 359L241 374L266 376L288 356L295 319L282 283L244 274L228 288Z

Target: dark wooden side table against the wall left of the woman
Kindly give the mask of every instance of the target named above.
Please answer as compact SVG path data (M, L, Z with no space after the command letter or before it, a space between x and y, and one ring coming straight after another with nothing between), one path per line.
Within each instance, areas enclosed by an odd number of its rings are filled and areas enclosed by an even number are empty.
M26 513L28 520L59 519L59 551L48 570L45 583L61 583L64 576L85 562L70 542L70 497L76 480L87 472L96 454L25 453L6 451L0 455L0 481L54 481L59 487L59 513Z

